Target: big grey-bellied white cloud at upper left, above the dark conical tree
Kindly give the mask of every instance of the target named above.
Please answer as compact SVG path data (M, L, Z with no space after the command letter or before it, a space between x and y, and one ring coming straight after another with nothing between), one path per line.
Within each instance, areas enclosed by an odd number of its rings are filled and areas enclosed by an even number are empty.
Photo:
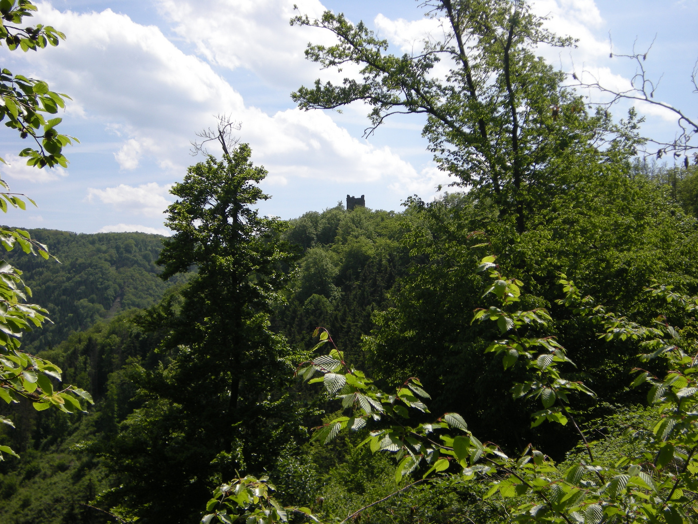
M189 138L215 112L240 112L242 97L204 61L186 54L154 26L128 16L61 13L40 5L37 16L69 35L58 48L29 57L57 89L68 92L87 119L124 141L114 158L121 169L153 157L181 173Z

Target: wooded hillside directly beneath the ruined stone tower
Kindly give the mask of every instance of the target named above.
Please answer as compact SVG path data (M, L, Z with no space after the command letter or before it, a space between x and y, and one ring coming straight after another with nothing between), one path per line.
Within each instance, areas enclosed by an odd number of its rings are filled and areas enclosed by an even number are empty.
M290 221L284 236L304 249L299 274L276 306L272 326L298 349L311 344L317 326L343 341L353 361L362 362L361 336L373 327L388 291L406 270L401 214L341 205Z

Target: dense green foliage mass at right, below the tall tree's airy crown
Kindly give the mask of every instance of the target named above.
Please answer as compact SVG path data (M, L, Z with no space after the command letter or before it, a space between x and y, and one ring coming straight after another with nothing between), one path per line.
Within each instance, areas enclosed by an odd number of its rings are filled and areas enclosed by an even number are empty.
M401 222L401 247L410 254L407 271L388 293L387 307L374 314L371 336L364 337L373 376L389 382L404 373L420 377L435 408L463 414L477 432L507 449L545 440L551 455L564 456L574 445L574 432L528 428L525 412L504 395L510 378L483 354L498 328L471 325L463 314L482 307L482 280L470 268L484 249L492 249L502 272L530 290L521 299L526 308L551 311L550 332L577 363L576 377L608 402L640 402L625 384L636 351L621 340L609 349L593 326L557 305L557 273L570 275L601 302L651 321L656 312L643 288L653 279L696 289L695 221L671 201L664 184L633 180L624 168L594 177L578 174L566 195L541 205L523 235L482 196L414 199ZM478 246L482 236L471 231L485 232L485 245ZM591 399L582 401L579 409L593 405Z

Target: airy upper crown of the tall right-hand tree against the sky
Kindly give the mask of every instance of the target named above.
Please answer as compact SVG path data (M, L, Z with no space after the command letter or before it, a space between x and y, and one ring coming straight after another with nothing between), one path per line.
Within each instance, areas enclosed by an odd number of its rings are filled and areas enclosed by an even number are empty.
M397 57L388 43L359 23L326 11L320 20L299 15L292 24L322 27L336 45L312 45L306 57L323 68L358 64L361 80L342 85L315 81L292 94L299 108L338 108L355 101L372 107L372 133L396 113L424 114L422 133L442 170L461 187L484 189L501 214L526 230L532 204L545 205L572 186L565 173L577 157L597 163L634 151L634 119L614 126L607 112L589 115L584 101L563 85L565 74L535 56L537 45L572 45L543 29L523 0L429 0L443 38ZM441 32L441 31L439 31ZM448 73L435 73L438 62ZM602 149L604 152L599 153ZM512 213L513 212L513 213Z

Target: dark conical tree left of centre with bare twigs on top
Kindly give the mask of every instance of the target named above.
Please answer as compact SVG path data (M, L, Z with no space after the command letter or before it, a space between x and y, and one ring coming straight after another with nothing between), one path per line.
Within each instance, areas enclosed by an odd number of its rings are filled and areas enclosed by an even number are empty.
M267 172L250 156L246 144L209 156L172 188L174 235L158 263L163 279L195 272L143 321L162 333L162 363L135 377L147 402L110 451L124 479L115 496L149 522L191 522L213 483L272 467L300 431L286 388L292 352L269 328L297 252L279 237L285 223L253 208L268 198L258 187Z

